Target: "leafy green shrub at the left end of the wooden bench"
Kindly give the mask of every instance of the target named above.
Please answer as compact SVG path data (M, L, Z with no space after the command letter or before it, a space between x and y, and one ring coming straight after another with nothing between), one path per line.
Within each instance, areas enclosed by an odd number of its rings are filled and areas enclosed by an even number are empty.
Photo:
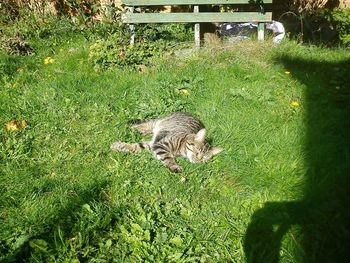
M140 26L135 35L136 43L129 45L130 33L120 24L119 30L107 38L97 39L89 49L89 61L95 70L148 65L150 58L171 51L178 42L183 43L192 36L191 29L181 24Z

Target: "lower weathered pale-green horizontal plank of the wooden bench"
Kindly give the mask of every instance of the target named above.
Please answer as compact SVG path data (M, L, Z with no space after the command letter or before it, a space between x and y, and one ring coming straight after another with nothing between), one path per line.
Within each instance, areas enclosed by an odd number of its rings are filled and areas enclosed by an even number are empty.
M271 22L272 13L127 13L122 16L124 23L224 23L224 22Z

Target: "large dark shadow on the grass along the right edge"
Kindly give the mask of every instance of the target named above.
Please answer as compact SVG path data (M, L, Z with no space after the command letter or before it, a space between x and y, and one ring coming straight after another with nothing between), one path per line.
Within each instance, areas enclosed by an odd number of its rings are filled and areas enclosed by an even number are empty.
M304 196L266 203L245 235L248 262L279 262L292 226L296 262L350 262L350 61L279 61L306 85Z

